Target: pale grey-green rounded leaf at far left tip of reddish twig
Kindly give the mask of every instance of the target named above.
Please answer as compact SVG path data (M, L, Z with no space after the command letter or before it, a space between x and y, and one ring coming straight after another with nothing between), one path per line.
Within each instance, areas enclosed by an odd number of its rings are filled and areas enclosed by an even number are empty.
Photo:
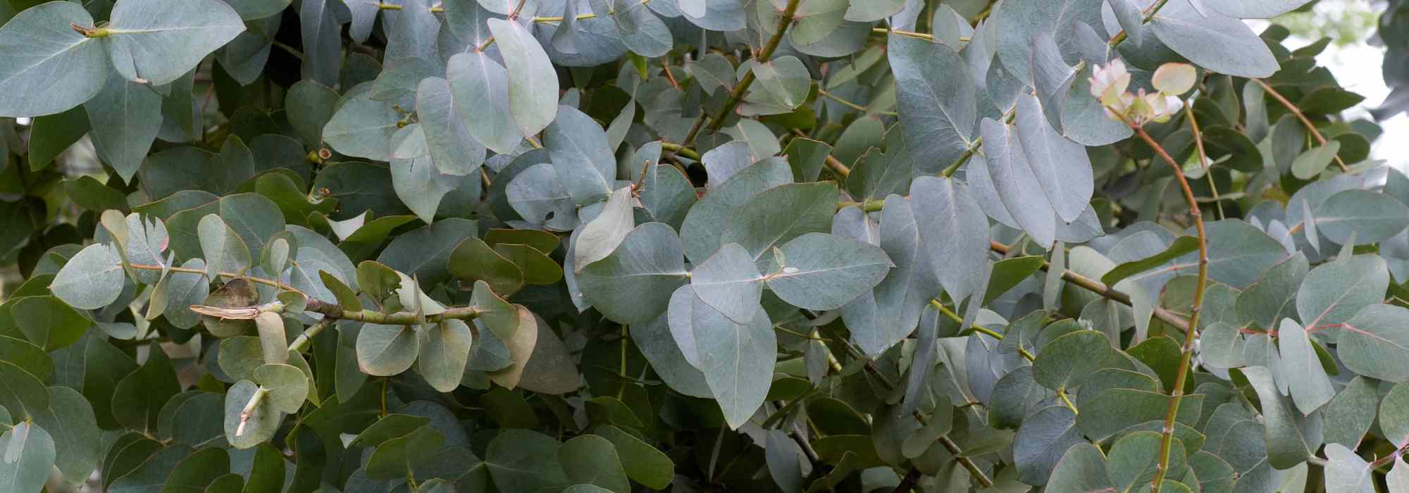
M97 310L123 294L123 259L107 244L87 245L54 276L49 290L79 310Z

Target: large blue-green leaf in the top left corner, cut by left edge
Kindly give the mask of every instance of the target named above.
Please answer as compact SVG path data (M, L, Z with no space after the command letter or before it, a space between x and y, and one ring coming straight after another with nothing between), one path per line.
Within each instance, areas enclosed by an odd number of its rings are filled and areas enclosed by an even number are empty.
M62 113L103 90L110 73L103 42L69 24L93 27L93 17L76 3L49 1L0 27L0 116Z

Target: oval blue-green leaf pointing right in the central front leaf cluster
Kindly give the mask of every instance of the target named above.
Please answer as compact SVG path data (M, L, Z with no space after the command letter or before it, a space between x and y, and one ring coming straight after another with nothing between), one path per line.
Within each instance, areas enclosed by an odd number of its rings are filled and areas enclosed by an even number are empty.
M776 249L764 279L792 306L833 310L881 283L890 266L881 246L809 232Z

